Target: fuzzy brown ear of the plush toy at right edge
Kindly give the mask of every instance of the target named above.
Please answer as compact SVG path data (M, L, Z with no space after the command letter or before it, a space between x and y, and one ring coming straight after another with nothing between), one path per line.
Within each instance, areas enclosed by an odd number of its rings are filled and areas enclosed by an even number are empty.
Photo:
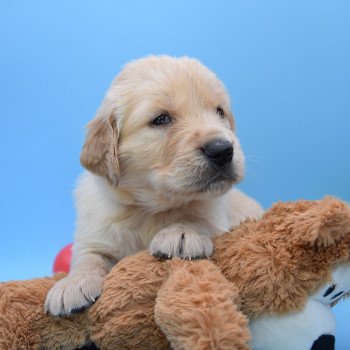
M327 247L350 233L350 206L334 197L315 201L295 218L292 240Z

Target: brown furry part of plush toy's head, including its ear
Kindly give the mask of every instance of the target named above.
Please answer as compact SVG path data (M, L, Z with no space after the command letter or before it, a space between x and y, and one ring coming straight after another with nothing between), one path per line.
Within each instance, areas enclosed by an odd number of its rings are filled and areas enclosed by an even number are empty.
M278 203L218 236L212 260L238 287L246 315L290 312L348 262L349 232L349 205L335 198Z

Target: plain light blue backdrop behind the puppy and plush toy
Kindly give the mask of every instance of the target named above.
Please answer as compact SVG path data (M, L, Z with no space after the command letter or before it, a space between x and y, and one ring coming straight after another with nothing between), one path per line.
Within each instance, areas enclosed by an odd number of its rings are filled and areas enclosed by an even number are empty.
M346 0L1 1L0 280L51 273L72 240L84 125L148 54L199 58L224 81L241 187L265 207L350 200L349 18ZM335 310L345 350L350 302Z

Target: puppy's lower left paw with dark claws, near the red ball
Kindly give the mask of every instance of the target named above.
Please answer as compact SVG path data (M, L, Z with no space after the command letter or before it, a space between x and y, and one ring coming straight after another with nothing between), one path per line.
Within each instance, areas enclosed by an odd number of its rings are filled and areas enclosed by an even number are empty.
M88 309L101 295L103 280L104 277L97 274L68 275L49 291L45 312L65 317Z

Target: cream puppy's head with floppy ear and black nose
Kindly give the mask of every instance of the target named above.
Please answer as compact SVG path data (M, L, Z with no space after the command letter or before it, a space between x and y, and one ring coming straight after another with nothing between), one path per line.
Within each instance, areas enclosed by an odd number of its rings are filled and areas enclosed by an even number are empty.
M123 69L89 124L81 163L139 201L147 190L220 195L244 173L225 88L186 57L152 56Z

